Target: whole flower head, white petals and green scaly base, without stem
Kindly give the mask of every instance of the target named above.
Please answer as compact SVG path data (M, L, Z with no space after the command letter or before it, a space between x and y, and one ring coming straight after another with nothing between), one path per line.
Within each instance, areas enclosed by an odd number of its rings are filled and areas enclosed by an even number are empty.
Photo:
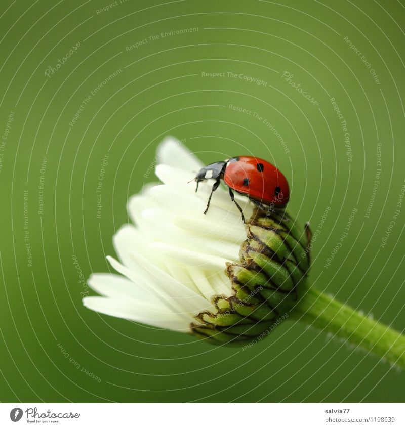
M247 219L255 213L244 225L225 186L204 215L212 183L195 192L193 182L202 166L174 138L160 144L155 174L163 184L129 200L134 224L114 235L119 261L107 257L121 275L92 274L101 296L85 297L87 308L233 343L266 331L296 300L309 258L295 222L236 195Z

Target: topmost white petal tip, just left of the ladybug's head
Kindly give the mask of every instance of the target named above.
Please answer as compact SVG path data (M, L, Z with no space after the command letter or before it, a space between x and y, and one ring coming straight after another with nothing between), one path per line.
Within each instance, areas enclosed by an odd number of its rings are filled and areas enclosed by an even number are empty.
M166 137L157 146L157 161L172 165L190 173L198 173L203 163L174 137Z

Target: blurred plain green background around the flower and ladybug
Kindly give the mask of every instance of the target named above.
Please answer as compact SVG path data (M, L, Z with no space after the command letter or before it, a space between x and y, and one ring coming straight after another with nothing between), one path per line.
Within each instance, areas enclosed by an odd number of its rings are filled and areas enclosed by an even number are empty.
M156 146L174 135L207 163L241 154L276 162L290 182L291 212L314 230L330 207L313 244L311 278L341 301L405 328L405 205L380 247L405 178L404 6L128 0L97 12L106 5L18 0L0 7L3 141L9 131L0 151L1 401L404 401L405 373L303 325L285 322L241 351L89 311L81 302L89 290L72 259L85 279L108 271L105 255L115 254L111 237L128 222L127 199L154 180L148 167ZM195 30L149 39L185 28ZM203 76L210 72L225 76ZM331 98L347 122L350 156ZM326 268L353 208L348 235Z

